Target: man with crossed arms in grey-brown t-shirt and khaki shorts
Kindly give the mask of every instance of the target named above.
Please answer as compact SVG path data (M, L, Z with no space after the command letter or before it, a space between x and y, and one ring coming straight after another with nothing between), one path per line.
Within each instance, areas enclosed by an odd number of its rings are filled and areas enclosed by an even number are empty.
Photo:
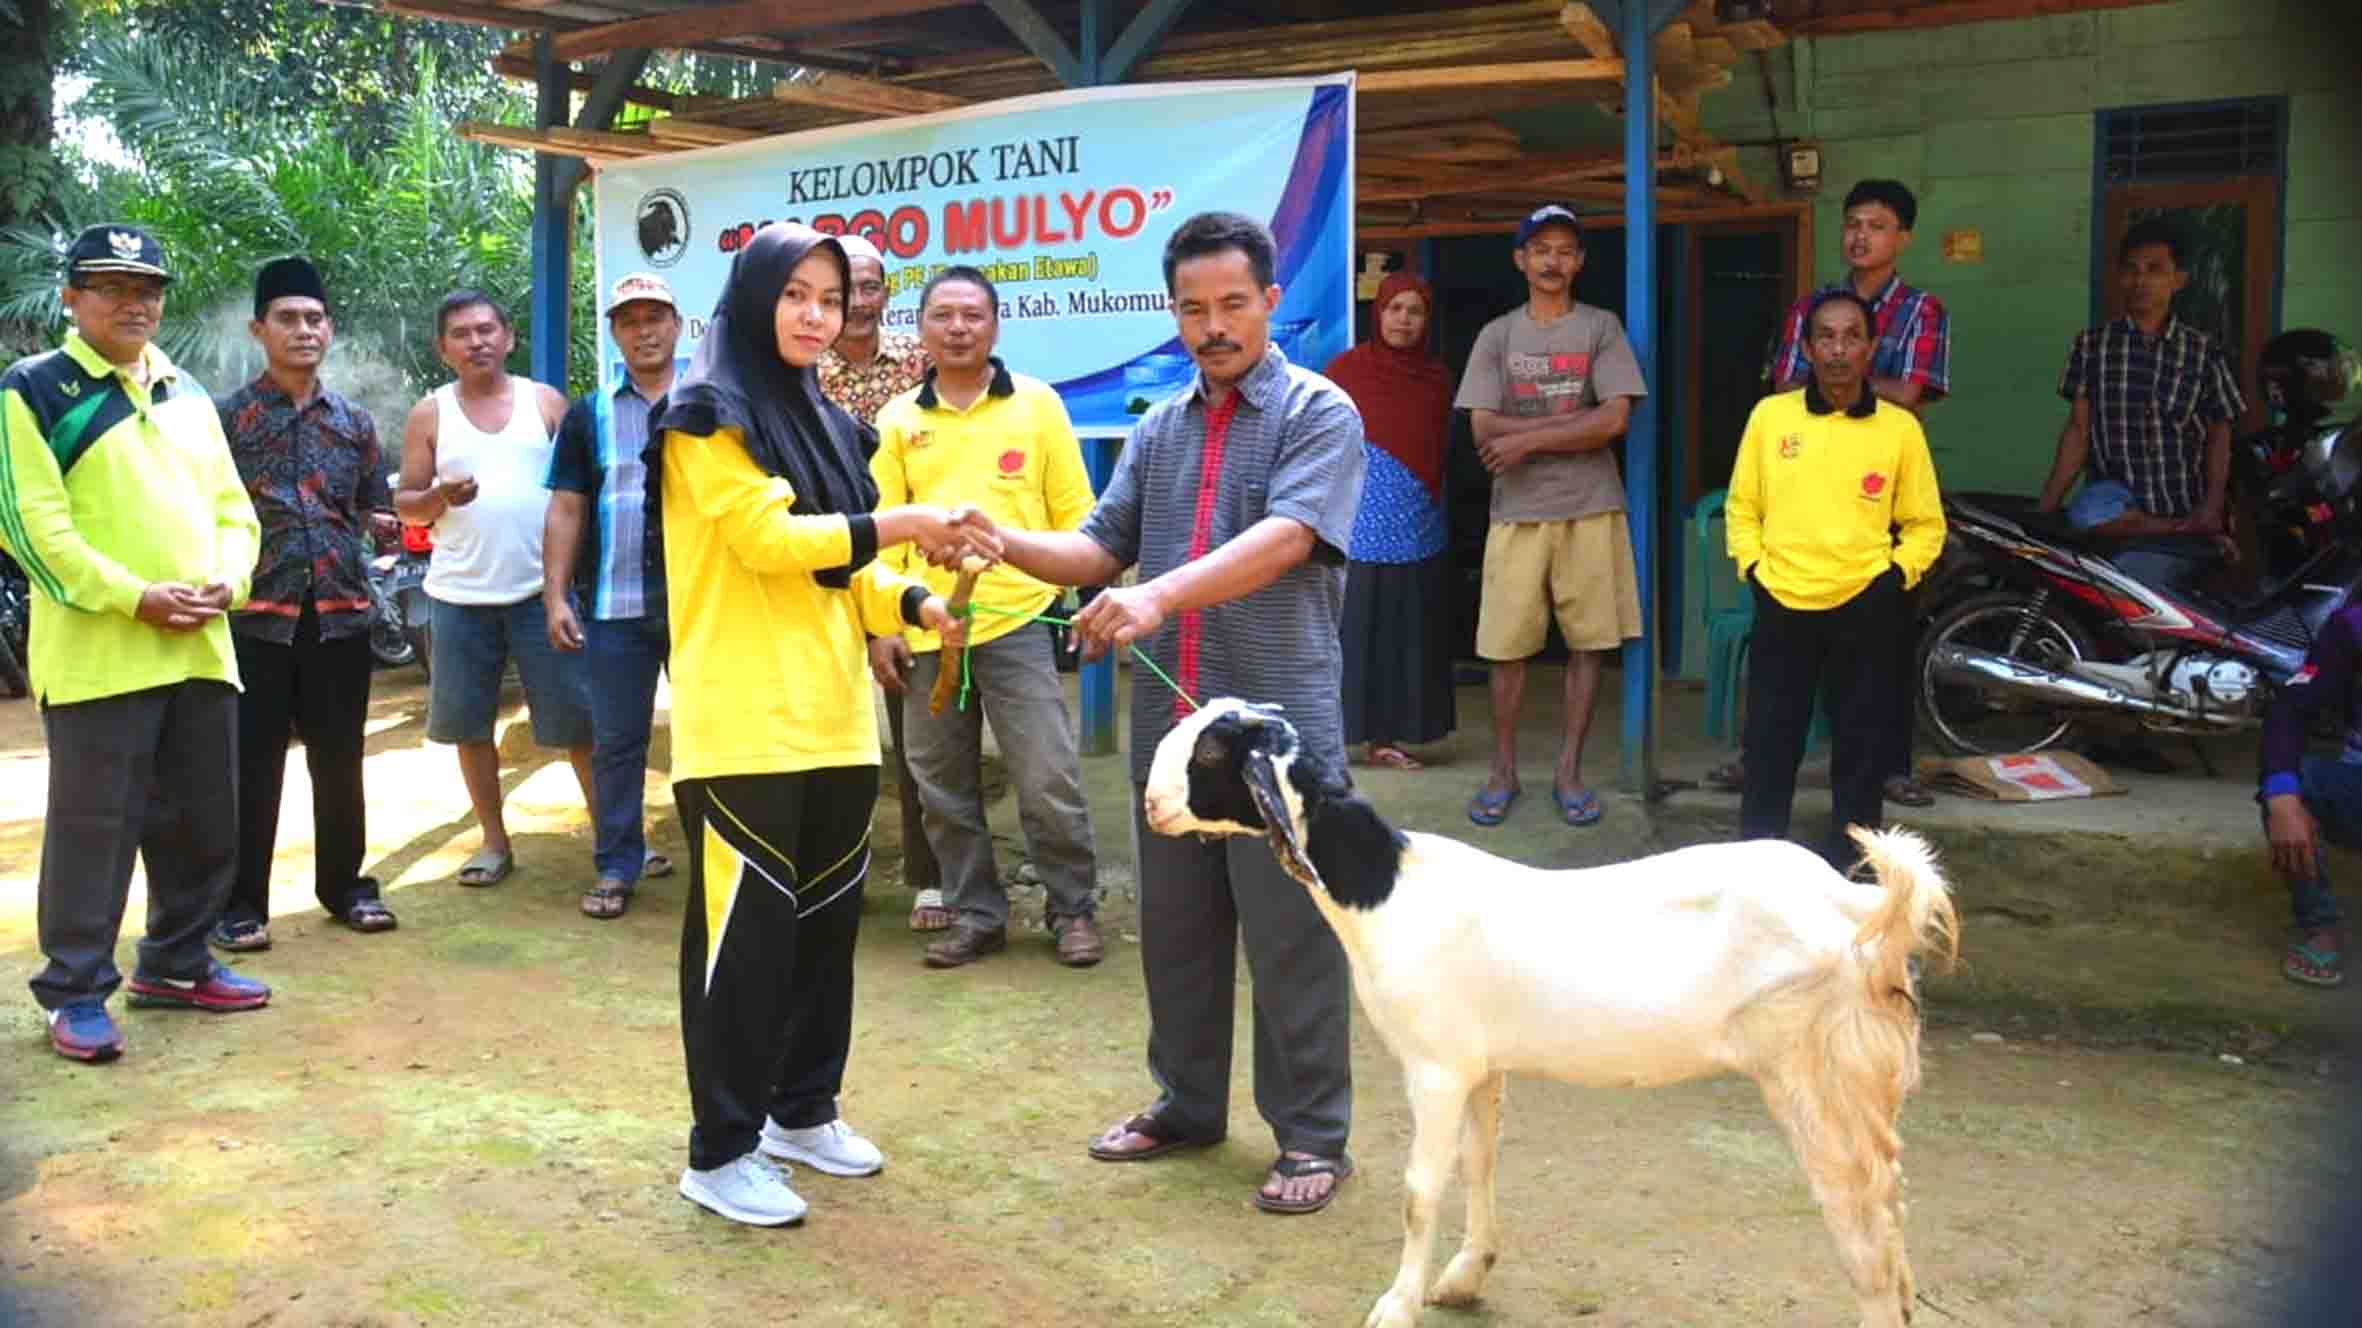
M1500 825L1523 792L1516 711L1526 659L1549 640L1557 617L1568 657L1552 801L1566 825L1592 825L1599 799L1583 782L1583 740L1599 699L1599 655L1642 631L1623 475L1609 447L1649 385L1616 314L1575 302L1583 232L1571 208L1535 208L1516 227L1512 258L1526 274L1526 302L1476 333L1453 402L1469 411L1493 473L1476 610L1476 655L1493 662L1493 777L1469 799L1469 820Z

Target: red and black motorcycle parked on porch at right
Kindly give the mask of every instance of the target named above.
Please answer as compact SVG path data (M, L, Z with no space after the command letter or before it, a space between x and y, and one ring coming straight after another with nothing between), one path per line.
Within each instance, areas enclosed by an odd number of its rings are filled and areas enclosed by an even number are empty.
M2242 600L2147 586L2109 560L2123 541L2076 532L2031 499L1946 496L1951 532L1918 645L1925 725L1953 751L1989 756L2055 747L2090 723L2258 728L2329 614L2362 593L2362 423L2310 428L2282 451L2260 525L2312 536Z

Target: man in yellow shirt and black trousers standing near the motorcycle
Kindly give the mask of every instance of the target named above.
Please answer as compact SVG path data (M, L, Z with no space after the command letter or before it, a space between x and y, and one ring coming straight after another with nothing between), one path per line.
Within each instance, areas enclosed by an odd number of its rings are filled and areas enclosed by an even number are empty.
M1812 302L1812 380L1755 404L1724 508L1731 560L1755 591L1738 836L1788 834L1795 768L1826 692L1835 740L1821 851L1838 867L1854 860L1845 827L1883 820L1880 728L1894 688L1908 685L1894 669L1897 633L1911 631L1904 591L1944 551L1927 435L1871 392L1875 326L1852 291Z

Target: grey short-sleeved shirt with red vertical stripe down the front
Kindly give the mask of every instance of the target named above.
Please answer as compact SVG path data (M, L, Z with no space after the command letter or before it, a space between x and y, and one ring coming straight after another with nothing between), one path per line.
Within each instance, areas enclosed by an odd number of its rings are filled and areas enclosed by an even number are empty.
M1131 428L1108 492L1082 522L1141 581L1202 558L1264 517L1311 527L1313 555L1226 605L1172 614L1141 643L1198 702L1280 704L1306 751L1344 766L1344 560L1363 484L1361 411L1342 388L1264 352L1231 397L1207 406L1205 376ZM1176 723L1174 695L1131 681L1131 777L1148 782Z

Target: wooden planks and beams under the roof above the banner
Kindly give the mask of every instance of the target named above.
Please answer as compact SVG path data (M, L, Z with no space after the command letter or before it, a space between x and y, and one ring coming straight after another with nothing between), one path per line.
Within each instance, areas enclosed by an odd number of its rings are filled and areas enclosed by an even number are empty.
M850 121L909 116L1049 92L1051 69L987 2L959 0L378 0L383 9L513 28L496 66L529 80L534 40L550 33L562 61L631 47L694 50L791 66L770 95L694 99L633 90L654 106L628 132L463 123L458 132L593 163L713 147ZM1637 0L1635 0L1637 2ZM1866 31L2067 12L2154 0L1696 0L1658 35L1660 206L1675 215L1764 201L1736 154L1701 125L1698 99L1734 66L1795 31ZM1105 9L1115 43L1141 2ZM1072 50L1077 0L1035 0ZM1731 14L1734 21L1724 21ZM1609 24L1561 0L1198 0L1127 76L1134 83L1361 76L1358 220L1372 239L1486 232L1540 196L1601 210L1623 203L1618 151L1533 151L1509 111L1594 104L1623 111L1623 52ZM588 85L590 71L574 76ZM1578 111L1580 113L1580 111ZM1609 125L1601 123L1606 130Z

